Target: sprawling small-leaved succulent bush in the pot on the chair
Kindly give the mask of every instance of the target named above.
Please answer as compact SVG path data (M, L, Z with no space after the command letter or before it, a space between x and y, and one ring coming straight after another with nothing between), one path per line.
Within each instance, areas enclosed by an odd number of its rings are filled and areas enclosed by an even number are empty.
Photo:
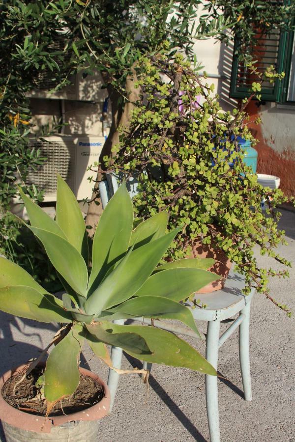
M141 100L130 127L121 128L113 157L105 157L100 169L138 180L133 198L136 222L165 210L169 229L182 226L166 257L186 256L201 238L236 264L245 276L245 294L255 287L290 314L268 288L270 276L286 277L288 271L261 268L253 252L258 246L262 255L291 266L276 251L286 241L277 224L280 214L273 210L287 198L281 190L258 183L238 143L241 136L255 145L245 108L253 97L260 99L261 83L273 83L284 74L276 74L272 66L258 73L250 63L249 70L260 78L253 82L250 98L230 112L221 108L206 74L199 75L182 55L167 60L163 55L142 58Z

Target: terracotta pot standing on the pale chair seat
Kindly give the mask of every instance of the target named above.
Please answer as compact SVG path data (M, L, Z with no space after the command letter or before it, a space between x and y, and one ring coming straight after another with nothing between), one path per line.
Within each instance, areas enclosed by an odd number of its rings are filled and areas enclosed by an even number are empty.
M196 293L210 293L215 290L223 289L232 265L231 261L224 253L224 251L221 249L213 249L211 245L203 244L201 239L197 239L194 242L194 253L192 252L189 257L194 257L194 254L196 258L215 259L215 264L211 266L208 270L222 277L222 279L218 279L217 281L213 281L210 284L207 284Z

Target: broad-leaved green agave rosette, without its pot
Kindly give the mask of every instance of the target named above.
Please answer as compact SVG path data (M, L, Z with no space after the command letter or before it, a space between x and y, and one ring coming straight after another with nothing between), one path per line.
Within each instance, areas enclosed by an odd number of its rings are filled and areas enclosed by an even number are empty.
M212 260L181 260L156 267L179 231L165 234L167 212L132 230L132 202L123 183L98 223L90 265L84 219L62 178L58 176L55 221L19 191L29 215L28 228L43 244L64 293L60 300L24 269L0 258L0 309L22 318L64 324L47 347L57 344L38 383L43 384L48 413L78 387L83 341L109 366L106 344L148 362L216 375L207 360L175 334L156 327L112 323L135 317L169 318L198 333L191 310L179 302L218 276L206 270Z

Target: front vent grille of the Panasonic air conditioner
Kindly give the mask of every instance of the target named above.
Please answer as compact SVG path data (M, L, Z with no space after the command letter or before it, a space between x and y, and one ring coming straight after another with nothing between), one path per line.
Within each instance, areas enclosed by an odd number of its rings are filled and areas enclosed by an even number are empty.
M45 189L45 196L55 195L57 192L57 172L74 190L75 180L75 152L69 149L62 141L31 141L32 149L40 149L40 155L46 160L36 170L29 170L27 184L34 184L38 189Z

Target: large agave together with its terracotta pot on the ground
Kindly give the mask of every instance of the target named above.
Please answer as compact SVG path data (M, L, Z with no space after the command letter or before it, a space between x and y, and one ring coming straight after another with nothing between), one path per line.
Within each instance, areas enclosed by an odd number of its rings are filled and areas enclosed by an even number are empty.
M109 410L110 393L98 376L79 368L84 342L111 368L106 345L148 362L216 375L207 360L175 334L112 323L143 316L171 318L198 333L191 311L180 301L216 275L205 270L211 262L200 259L156 267L179 230L165 234L166 212L132 230L132 202L123 183L99 221L90 261L83 216L60 176L55 221L21 189L20 194L29 215L28 228L43 244L64 293L62 299L48 293L24 269L0 258L0 309L22 318L61 323L41 355L52 346L46 363L42 365L39 358L1 378L0 419L7 441L95 439L98 419ZM80 404L77 411L76 393L85 382L92 383L95 391L88 405Z

